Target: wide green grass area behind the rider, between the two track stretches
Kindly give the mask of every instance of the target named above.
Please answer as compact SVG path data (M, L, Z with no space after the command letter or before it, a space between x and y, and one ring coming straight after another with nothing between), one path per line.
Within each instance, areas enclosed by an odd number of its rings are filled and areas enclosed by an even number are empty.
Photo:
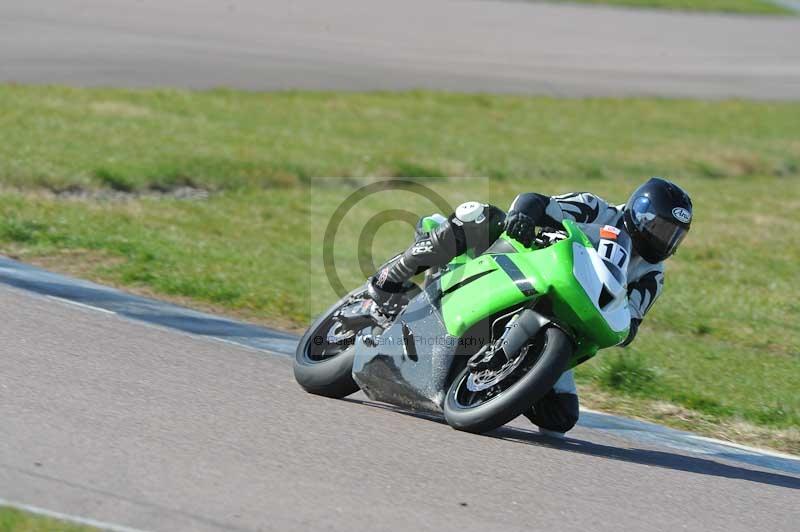
M334 298L316 251L360 176L427 176L451 205L504 208L523 190L621 202L673 176L696 217L665 294L579 381L643 417L657 400L711 425L800 426L800 104L15 86L0 122L0 252L294 328ZM212 193L152 193L181 186ZM359 204L334 246L345 285L364 278L361 228L389 208L433 210L399 192ZM376 260L410 238L381 228ZM770 444L800 451L792 434Z

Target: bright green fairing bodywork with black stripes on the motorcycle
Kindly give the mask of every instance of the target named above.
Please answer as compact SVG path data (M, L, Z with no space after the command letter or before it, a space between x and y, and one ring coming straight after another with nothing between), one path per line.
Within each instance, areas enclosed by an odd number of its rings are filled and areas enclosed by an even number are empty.
M543 249L525 248L504 234L501 238L517 253L485 254L474 259L462 255L454 259L449 266L451 271L440 279L445 293L442 315L448 333L460 337L489 316L526 302L535 306L539 299L547 298L554 321L576 340L571 367L588 360L598 349L622 342L627 331L618 333L609 327L573 274L573 245L592 247L592 243L574 222L565 221L564 227L568 238ZM498 264L501 257L507 257L505 270ZM513 265L507 264L509 260ZM509 266L516 266L524 279L515 283L506 272ZM472 278L476 279L469 281ZM523 293L518 283L526 281L533 285L535 293ZM459 283L463 286L457 286Z

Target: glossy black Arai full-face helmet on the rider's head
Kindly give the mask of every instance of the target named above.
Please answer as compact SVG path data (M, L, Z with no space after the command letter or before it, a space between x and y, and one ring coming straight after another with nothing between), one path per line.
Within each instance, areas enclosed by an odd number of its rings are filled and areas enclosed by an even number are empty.
M644 260L658 263L675 253L692 224L692 200L675 183L654 177L631 194L625 229Z

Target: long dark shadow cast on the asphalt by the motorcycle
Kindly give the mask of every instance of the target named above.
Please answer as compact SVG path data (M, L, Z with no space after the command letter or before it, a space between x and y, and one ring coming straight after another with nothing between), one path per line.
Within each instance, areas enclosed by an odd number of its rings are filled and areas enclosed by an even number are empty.
M411 416L428 421L434 421L441 425L447 425L444 417L434 414L414 412L386 403L377 403L367 399L346 398L348 402L358 403L372 408L389 410L398 414ZM735 465L725 464L701 458L698 456L678 454L669 451L656 451L653 449L639 449L630 447L615 447L603 445L574 437L567 437L563 440L552 438L540 434L538 431L528 430L520 427L506 425L482 435L487 438L495 438L509 443L532 445L535 447L547 447L572 453L589 456L596 456L608 460L617 460L641 464L675 471L683 471L698 475L710 475L721 478L747 480L759 484L768 484L782 488L800 489L800 478L779 473L772 473L758 469L748 469Z

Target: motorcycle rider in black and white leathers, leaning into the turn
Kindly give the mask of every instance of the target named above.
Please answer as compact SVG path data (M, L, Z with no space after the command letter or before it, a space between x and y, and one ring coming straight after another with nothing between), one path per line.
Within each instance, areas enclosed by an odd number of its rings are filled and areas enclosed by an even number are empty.
M449 263L470 250L479 255L506 234L530 247L536 226L559 227L564 219L579 223L610 225L626 231L633 243L628 265L628 304L631 325L621 346L629 345L644 315L664 286L663 262L678 249L689 231L692 201L678 185L654 177L637 188L624 205L613 206L588 192L548 197L520 194L508 213L487 204L462 204L430 232L419 228L417 238L403 254L378 271L370 282L370 294L387 315L396 314L403 303L403 286L411 277ZM563 437L578 422L578 392L572 370L565 372L528 417L547 435Z

